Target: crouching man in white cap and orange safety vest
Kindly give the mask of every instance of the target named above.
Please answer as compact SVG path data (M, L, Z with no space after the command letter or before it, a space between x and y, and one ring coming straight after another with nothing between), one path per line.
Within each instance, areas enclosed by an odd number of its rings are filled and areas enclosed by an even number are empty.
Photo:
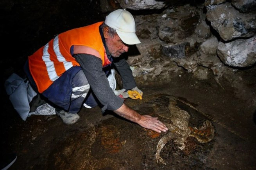
M29 56L25 72L36 90L55 105L56 114L66 124L77 122L82 105L91 108L100 104L103 112L112 110L142 127L165 132L168 129L157 118L140 115L124 104L123 98L141 99L143 95L125 59L118 59L129 45L138 43L133 16L118 9L105 22L56 36ZM124 85L119 91L115 91L115 83L111 89L107 79L114 76L113 65Z

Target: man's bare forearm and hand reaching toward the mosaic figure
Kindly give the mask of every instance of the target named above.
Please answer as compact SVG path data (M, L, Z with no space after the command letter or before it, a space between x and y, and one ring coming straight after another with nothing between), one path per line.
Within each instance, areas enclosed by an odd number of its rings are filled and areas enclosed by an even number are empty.
M119 109L114 111L117 115L122 116L132 122L138 123L140 126L151 129L156 132L166 132L167 127L158 120L158 118L154 118L149 115L140 115L135 110L123 104Z

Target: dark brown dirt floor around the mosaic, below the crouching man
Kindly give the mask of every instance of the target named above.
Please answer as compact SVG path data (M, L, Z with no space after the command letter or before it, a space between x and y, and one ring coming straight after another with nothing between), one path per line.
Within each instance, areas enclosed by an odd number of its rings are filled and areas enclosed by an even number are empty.
M140 88L143 100L125 103L176 129L158 134L110 112L102 115L99 107L83 108L75 125L55 115L24 122L5 99L1 146L3 153L18 155L10 169L255 169L256 125L233 89L188 74ZM170 107L170 101L176 104ZM190 118L184 121L175 108Z

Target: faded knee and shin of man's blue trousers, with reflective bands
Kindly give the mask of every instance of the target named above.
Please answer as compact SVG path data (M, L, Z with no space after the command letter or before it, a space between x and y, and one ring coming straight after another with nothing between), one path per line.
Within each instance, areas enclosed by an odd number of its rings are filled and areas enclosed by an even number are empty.
M70 102L70 113L77 113L84 103L84 99L90 90L90 84L84 72L80 70L72 81L72 96Z

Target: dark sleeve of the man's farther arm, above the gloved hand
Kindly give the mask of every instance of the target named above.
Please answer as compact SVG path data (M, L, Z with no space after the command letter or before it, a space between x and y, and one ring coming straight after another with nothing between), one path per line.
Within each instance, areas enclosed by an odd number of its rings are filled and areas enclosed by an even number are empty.
M136 87L136 82L132 75L132 70L129 64L125 61L124 58L115 59L114 64L120 76L122 78L124 89L132 89Z

